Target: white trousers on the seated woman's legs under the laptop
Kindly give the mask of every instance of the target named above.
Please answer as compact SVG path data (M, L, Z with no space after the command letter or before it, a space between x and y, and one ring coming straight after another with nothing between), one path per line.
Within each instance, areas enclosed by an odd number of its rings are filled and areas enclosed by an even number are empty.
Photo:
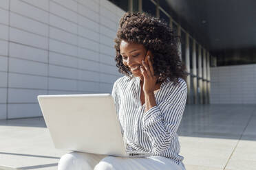
M61 156L58 170L185 170L183 163L162 156L124 158L72 152Z

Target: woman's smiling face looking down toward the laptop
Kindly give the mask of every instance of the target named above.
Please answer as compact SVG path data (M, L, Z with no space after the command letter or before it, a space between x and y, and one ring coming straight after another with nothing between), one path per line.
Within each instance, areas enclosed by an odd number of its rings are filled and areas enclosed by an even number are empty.
M147 50L141 44L127 42L125 40L121 40L120 42L122 63L128 66L129 71L136 77L142 77L140 65L142 65L142 60L145 60L145 56L150 55L149 53L150 51L147 53Z

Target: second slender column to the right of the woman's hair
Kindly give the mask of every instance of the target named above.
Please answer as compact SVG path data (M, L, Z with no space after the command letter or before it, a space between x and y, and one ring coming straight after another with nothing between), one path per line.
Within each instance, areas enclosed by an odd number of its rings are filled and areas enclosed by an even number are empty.
M196 51L195 51L195 39L193 39L193 49L192 49L192 73L193 73L193 100L194 104L198 103L198 77L197 77L197 69L196 69Z

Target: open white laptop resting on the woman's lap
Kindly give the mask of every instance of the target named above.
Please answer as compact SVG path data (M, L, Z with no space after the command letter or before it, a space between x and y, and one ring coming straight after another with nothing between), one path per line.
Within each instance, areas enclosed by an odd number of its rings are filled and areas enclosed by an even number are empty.
M111 156L151 156L126 151L110 94L39 95L38 100L57 149Z

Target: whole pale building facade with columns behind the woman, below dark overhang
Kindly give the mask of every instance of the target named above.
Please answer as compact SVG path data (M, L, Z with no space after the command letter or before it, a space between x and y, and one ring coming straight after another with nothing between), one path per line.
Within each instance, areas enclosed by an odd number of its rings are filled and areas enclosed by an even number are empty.
M213 55L162 2L1 1L0 119L41 117L37 95L111 93L122 76L114 61L114 38L127 11L164 19L180 36L187 104L256 104L255 64L217 66L228 62Z

